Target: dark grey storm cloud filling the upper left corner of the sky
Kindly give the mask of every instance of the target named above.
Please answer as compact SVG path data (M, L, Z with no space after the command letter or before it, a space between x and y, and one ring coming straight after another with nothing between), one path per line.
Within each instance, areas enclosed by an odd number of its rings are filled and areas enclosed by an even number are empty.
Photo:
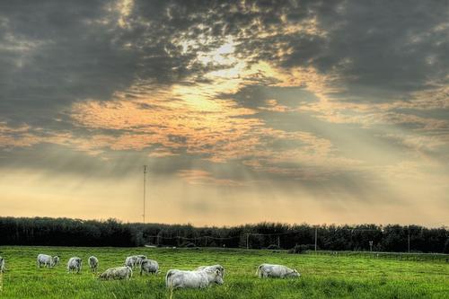
M178 29L156 18L167 18L165 4L147 7L154 13L148 17L155 19L150 28L139 22L120 27L116 6L104 1L2 2L0 118L49 126L73 101L110 100L135 80L170 84L187 75L191 57L171 43ZM182 22L175 26L181 28Z

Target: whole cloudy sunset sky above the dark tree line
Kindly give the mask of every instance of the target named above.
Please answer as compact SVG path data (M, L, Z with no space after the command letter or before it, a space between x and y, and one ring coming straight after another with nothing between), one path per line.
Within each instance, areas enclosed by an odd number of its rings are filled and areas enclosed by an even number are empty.
M1 215L449 224L449 3L2 1Z

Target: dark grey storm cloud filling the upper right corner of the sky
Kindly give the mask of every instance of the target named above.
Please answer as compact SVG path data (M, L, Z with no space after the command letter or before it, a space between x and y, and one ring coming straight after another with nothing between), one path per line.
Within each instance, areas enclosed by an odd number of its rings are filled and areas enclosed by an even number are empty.
M397 100L447 75L446 1L348 1L316 15L327 31L323 42L306 47L303 40L290 40L294 53L284 66L335 69L348 87L340 98Z

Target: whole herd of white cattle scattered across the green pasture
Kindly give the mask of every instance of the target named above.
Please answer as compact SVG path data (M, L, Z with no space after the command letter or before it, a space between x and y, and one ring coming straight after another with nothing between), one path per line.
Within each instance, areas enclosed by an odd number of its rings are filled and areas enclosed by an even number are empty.
M59 264L58 256L39 254L37 266L41 268L54 268ZM72 257L67 262L67 273L80 273L83 259ZM96 273L99 260L91 256L88 259L91 272ZM121 267L108 268L100 274L100 279L130 279L133 275L133 269L140 269L140 275L160 273L159 264L154 259L146 259L145 255L133 255L125 259L125 265ZM4 272L4 259L0 257L0 273ZM288 268L283 265L261 264L256 275L260 278L265 277L300 277L296 269ZM211 284L224 284L225 268L221 265L200 266L194 270L170 269L165 275L165 286L170 289L176 288L205 288Z

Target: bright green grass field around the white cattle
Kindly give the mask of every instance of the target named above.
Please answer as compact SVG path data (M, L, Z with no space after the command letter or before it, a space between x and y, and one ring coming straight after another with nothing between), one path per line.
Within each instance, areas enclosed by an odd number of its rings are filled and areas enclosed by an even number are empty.
M39 253L59 255L56 268L36 267ZM90 273L87 258L100 259L100 271L122 266L132 254L156 259L159 276L129 281L101 281ZM449 263L445 260L400 260L357 256L293 255L246 250L187 250L147 248L0 247L6 259L0 298L170 298L164 286L169 268L191 269L219 263L225 285L205 290L176 290L172 298L449 298ZM66 261L83 259L82 274L67 274ZM299 278L259 279L260 263L297 268Z

